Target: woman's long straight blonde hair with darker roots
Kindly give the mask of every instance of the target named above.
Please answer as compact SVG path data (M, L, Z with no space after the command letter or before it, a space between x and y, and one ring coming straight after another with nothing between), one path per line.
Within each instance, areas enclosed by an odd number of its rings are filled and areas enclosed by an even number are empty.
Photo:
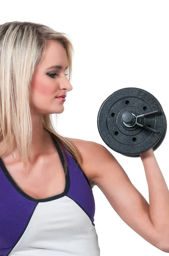
M73 45L65 33L40 23L13 21L0 25L0 148L2 156L14 147L27 166L31 149L32 125L30 113L30 85L34 69L42 58L48 40L59 41L68 58L68 79L71 80ZM57 117L57 113L55 114ZM82 169L82 155L78 148L55 129L51 114L42 116L43 128L56 140L67 164L65 152Z

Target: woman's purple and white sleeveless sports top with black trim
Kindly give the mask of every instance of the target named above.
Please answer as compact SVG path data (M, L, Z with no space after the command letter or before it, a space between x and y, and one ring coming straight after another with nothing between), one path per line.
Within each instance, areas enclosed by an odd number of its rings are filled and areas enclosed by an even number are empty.
M65 172L62 151L52 137ZM14 182L0 158L0 256L99 256L90 182L66 153L59 195L35 199Z

